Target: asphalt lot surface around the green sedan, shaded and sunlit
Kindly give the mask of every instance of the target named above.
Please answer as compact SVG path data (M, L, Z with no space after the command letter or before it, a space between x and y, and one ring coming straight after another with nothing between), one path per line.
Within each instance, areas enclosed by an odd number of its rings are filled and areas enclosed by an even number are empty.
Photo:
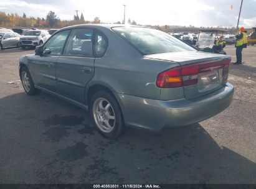
M227 53L235 62L235 48ZM130 129L103 139L86 111L24 93L18 60L0 51L0 183L256 183L256 46L232 65L231 106L194 126Z

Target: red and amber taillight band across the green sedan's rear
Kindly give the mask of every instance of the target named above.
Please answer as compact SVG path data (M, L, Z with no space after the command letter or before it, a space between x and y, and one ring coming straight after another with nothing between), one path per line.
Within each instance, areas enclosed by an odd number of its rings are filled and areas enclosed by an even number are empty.
M156 86L160 88L176 88L181 86L196 85L198 74L212 70L222 70L222 76L229 73L230 59L214 60L211 62L201 62L193 65L184 65L171 68L159 73L156 78Z

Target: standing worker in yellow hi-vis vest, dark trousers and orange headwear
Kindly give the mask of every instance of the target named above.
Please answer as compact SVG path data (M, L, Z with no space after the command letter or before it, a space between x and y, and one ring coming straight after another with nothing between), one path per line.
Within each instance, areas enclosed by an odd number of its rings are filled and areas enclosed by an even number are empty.
M242 63L242 50L243 48L247 48L247 35L245 33L244 27L240 28L240 34L235 35L237 38L237 42L235 43L236 55L237 55L237 62L234 64L241 64Z

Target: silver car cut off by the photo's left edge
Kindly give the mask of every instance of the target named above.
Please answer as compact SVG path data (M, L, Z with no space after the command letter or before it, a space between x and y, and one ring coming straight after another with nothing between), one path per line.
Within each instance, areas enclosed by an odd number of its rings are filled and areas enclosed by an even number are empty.
M21 35L14 32L0 32L0 48L19 47L19 38Z

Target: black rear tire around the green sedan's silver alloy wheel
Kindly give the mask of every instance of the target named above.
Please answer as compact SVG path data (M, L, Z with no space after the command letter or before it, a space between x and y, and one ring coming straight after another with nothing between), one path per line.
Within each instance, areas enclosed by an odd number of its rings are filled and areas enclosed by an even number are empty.
M97 125L97 118L96 115L93 113L93 106L97 103L98 99L107 99L107 101L111 105L111 109L113 110L113 116L115 117L115 121L113 123L112 130L110 132L104 132L100 128L100 126ZM107 91L97 91L92 95L92 98L90 100L90 116L92 118L93 124L97 128L97 130L102 134L103 137L106 137L107 139L117 139L126 131L126 126L123 121L123 115L121 113L120 106L118 102L116 101L113 94L108 93ZM98 117L99 118L99 117ZM106 117L107 119L107 117ZM105 119L104 119L105 120Z

